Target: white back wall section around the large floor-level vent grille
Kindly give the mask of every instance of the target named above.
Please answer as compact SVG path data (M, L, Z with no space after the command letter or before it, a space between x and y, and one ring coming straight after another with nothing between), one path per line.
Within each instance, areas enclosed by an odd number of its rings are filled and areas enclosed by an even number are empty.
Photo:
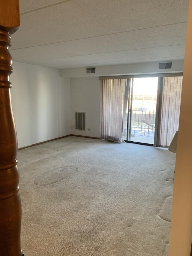
M75 112L85 112L85 131L71 128L71 134L100 137L100 80L99 77L70 79L71 125L75 125ZM91 131L87 131L91 128Z

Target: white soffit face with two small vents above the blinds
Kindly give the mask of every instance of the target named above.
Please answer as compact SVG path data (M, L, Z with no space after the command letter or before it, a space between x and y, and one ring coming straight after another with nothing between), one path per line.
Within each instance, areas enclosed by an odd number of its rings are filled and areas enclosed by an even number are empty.
M171 61L171 60L170 60ZM172 68L159 69L159 62L131 63L111 66L98 66L95 74L86 74L86 68L61 69L61 77L94 77L94 76L114 76L114 75L133 75L133 74L158 74L183 72L183 60L172 62Z

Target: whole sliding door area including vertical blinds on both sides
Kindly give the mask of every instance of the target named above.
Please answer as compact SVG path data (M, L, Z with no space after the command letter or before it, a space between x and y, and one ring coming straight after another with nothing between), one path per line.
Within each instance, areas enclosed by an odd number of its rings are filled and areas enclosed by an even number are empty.
M102 79L102 138L169 146L179 128L182 74L151 76Z

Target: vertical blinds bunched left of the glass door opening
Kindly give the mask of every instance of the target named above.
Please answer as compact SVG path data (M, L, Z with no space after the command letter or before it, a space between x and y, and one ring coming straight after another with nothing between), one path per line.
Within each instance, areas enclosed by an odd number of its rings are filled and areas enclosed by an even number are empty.
M121 143L128 101L129 79L101 80L101 137Z

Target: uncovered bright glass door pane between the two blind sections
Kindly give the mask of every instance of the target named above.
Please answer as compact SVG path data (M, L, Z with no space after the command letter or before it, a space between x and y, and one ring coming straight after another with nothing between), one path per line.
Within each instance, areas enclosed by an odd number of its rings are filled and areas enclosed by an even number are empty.
M158 77L132 78L127 141L154 144Z

